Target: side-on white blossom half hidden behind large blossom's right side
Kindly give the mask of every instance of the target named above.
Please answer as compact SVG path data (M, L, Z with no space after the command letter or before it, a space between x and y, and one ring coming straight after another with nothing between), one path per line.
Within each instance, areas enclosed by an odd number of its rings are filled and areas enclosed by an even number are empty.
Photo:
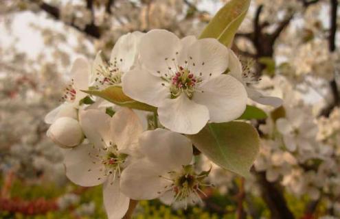
M280 107L280 105L282 105L282 99L275 96L264 96L258 92L256 88L253 88L253 85L258 83L258 78L251 73L251 70L249 70L248 67L249 66L242 67L241 62L238 60L234 51L229 52L229 75L238 79L238 81L245 86L249 98L263 105Z

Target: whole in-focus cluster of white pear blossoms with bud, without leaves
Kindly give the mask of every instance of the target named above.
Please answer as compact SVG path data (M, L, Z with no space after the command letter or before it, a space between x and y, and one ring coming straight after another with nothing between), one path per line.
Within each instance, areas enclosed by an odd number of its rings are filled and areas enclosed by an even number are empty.
M212 186L206 179L211 168L199 170L185 135L239 118L248 96L281 104L251 87L242 71L236 55L213 38L179 39L161 29L126 34L109 62L99 52L93 63L84 58L73 63L62 105L45 117L51 124L47 136L65 148L66 175L73 183L103 184L109 218L122 218L130 199L194 205ZM113 87L157 107L152 129L141 123L145 114L82 92Z

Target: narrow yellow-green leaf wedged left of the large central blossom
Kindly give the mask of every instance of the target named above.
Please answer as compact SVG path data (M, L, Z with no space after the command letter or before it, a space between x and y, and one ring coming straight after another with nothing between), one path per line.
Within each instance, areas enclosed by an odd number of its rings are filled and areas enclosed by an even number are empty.
M94 96L100 96L106 101L110 101L111 103L115 103L116 105L120 105L122 107L129 107L135 110L144 110L150 112L157 112L156 107L152 107L146 103L141 103L131 99L126 96L120 86L110 86L104 90L82 90L82 92L86 92L87 94L91 94Z

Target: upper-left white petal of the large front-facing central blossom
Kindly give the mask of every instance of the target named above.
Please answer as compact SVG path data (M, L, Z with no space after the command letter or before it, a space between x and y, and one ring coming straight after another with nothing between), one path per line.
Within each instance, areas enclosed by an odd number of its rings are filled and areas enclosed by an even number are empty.
M176 35L165 29L154 29L141 37L140 61L154 75L168 73L169 68L176 68L174 61L180 50L181 41Z

